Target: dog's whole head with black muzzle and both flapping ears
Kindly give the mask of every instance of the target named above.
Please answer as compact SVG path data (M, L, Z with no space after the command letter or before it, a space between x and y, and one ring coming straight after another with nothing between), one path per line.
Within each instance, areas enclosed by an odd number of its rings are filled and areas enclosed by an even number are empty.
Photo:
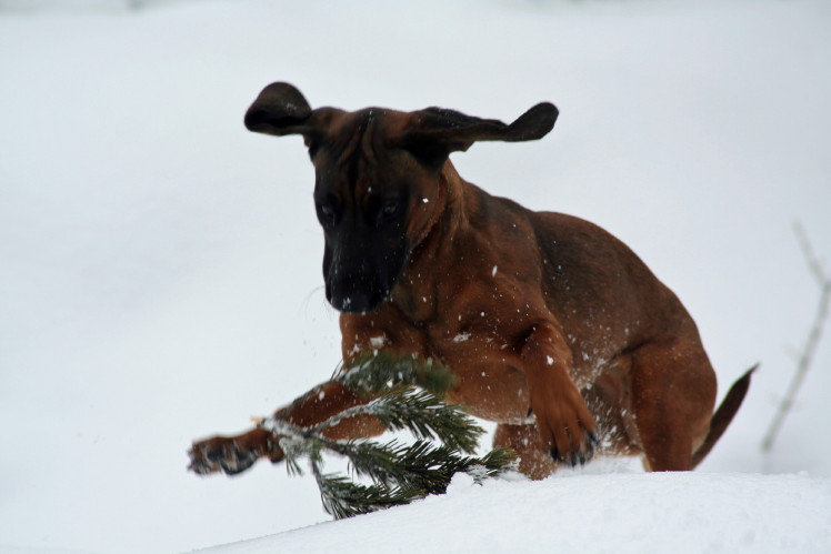
M246 127L303 137L326 236L327 299L341 312L364 313L390 295L410 252L444 210L439 183L450 153L480 140L540 139L557 115L547 102L511 124L440 108L312 110L294 87L272 83L249 108Z

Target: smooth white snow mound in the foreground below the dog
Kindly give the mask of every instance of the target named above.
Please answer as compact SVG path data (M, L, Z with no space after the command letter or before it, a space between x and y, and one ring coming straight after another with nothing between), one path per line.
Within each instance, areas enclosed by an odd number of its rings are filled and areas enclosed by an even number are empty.
M458 475L448 494L210 553L831 552L831 480L652 473Z

